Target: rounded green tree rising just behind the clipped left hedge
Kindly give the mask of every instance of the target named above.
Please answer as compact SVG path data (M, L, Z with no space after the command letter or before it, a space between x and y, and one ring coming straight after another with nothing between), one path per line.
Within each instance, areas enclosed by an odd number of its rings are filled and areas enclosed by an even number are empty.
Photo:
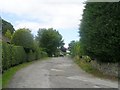
M24 48L33 49L34 40L29 29L18 29L12 36L11 43Z

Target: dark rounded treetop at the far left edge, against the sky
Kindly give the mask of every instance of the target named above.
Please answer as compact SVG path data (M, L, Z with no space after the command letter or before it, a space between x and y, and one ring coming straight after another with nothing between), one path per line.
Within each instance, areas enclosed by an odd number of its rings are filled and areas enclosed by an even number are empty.
M2 34L5 35L7 30L9 30L11 34L13 34L13 32L15 31L11 23L2 19Z

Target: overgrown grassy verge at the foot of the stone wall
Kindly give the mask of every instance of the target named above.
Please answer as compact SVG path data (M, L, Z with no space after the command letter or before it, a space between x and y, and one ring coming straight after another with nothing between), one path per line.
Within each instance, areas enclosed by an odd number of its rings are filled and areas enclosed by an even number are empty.
M93 68L92 65L89 62L86 62L85 60L75 59L74 62L79 67L81 67L81 69L83 69L87 73L94 75L95 77L99 77L101 79L109 79L109 80L113 80L113 81L118 81L117 77L104 74L103 72L99 71L98 69Z

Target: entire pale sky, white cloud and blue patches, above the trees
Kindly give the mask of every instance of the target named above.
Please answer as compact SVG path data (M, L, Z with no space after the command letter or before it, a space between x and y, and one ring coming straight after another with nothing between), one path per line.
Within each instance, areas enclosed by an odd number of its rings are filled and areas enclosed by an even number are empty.
M79 40L78 28L85 0L0 0L0 16L15 29L54 28L67 44Z

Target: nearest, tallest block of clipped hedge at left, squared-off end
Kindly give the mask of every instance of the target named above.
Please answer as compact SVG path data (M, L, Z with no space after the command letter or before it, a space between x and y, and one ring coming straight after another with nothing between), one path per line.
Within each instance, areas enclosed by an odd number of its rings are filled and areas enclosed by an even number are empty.
M26 62L26 54L21 46L13 46L7 43L2 44L2 69L7 70L11 66Z

